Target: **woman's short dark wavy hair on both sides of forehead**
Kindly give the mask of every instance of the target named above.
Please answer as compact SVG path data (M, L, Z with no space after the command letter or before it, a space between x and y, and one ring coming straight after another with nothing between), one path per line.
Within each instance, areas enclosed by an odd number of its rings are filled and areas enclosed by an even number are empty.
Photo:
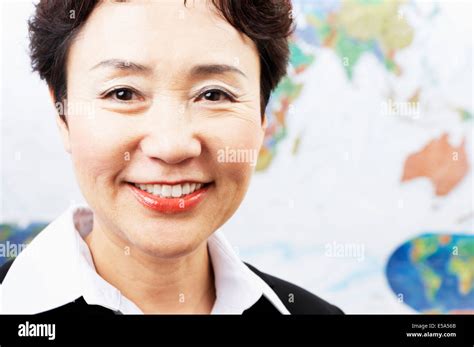
M120 1L118 1L120 2ZM55 101L67 96L69 47L100 0L40 0L29 20L33 71L48 83ZM294 30L290 0L211 0L220 15L256 45L260 57L260 108L286 74L288 37ZM184 0L186 6L186 0Z

